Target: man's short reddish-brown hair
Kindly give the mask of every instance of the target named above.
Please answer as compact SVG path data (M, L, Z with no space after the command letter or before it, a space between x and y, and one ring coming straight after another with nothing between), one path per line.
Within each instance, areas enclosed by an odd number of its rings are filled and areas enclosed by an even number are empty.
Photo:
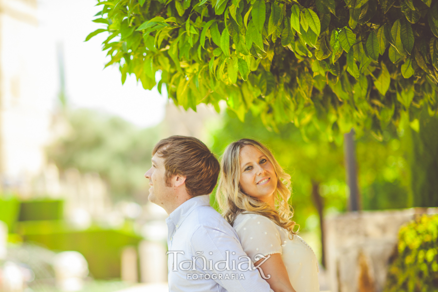
M213 192L218 182L220 165L213 153L195 137L170 136L155 145L152 155L158 152L164 159L166 185L170 178L183 175L185 189L191 196Z

